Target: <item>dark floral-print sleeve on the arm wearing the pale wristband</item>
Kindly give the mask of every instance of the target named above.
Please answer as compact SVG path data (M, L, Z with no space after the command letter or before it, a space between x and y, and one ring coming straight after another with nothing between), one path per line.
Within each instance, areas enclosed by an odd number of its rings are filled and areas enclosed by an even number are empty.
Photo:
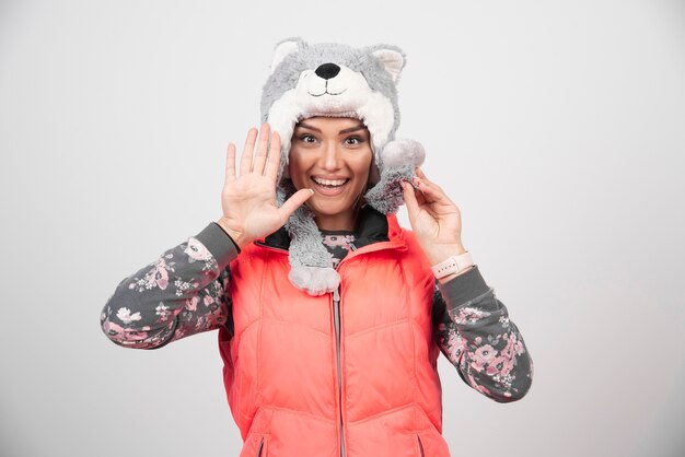
M440 350L467 385L499 402L529 391L533 360L478 266L444 284L436 281L433 324Z

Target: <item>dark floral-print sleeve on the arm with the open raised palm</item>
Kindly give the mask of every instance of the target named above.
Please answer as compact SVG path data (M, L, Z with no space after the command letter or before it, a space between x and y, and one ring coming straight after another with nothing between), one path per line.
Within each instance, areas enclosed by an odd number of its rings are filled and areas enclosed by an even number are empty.
M210 223L119 283L102 312L103 331L125 348L158 349L220 326L231 329L225 291L236 256L231 238Z

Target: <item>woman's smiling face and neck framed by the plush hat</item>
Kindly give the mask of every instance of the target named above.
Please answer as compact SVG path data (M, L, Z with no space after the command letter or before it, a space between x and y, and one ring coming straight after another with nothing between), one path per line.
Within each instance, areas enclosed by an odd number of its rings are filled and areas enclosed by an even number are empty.
M297 189L311 188L306 206L323 230L355 230L356 202L365 189L373 153L363 122L312 117L293 131L288 171Z

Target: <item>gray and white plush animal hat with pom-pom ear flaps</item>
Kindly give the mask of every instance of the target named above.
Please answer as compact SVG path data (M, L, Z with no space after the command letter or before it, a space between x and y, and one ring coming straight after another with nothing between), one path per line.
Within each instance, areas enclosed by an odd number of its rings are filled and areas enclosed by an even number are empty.
M396 84L404 66L404 52L392 45L352 48L307 44L299 37L276 45L262 94L262 118L281 138L279 206L295 191L287 166L295 125L314 116L352 117L369 129L373 150L363 201L383 214L397 212L404 203L399 181L410 179L425 157L418 142L395 140L399 125ZM291 238L290 282L311 295L337 289L340 278L306 204L290 216L286 230Z

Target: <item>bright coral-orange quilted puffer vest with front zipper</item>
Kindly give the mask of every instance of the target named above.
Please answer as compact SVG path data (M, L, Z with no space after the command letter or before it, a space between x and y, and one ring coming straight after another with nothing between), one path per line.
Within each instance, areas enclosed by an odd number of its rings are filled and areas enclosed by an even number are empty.
M362 214L363 246L338 266L332 294L291 285L282 230L231 262L234 335L222 327L219 348L241 457L450 455L434 277L395 215Z

